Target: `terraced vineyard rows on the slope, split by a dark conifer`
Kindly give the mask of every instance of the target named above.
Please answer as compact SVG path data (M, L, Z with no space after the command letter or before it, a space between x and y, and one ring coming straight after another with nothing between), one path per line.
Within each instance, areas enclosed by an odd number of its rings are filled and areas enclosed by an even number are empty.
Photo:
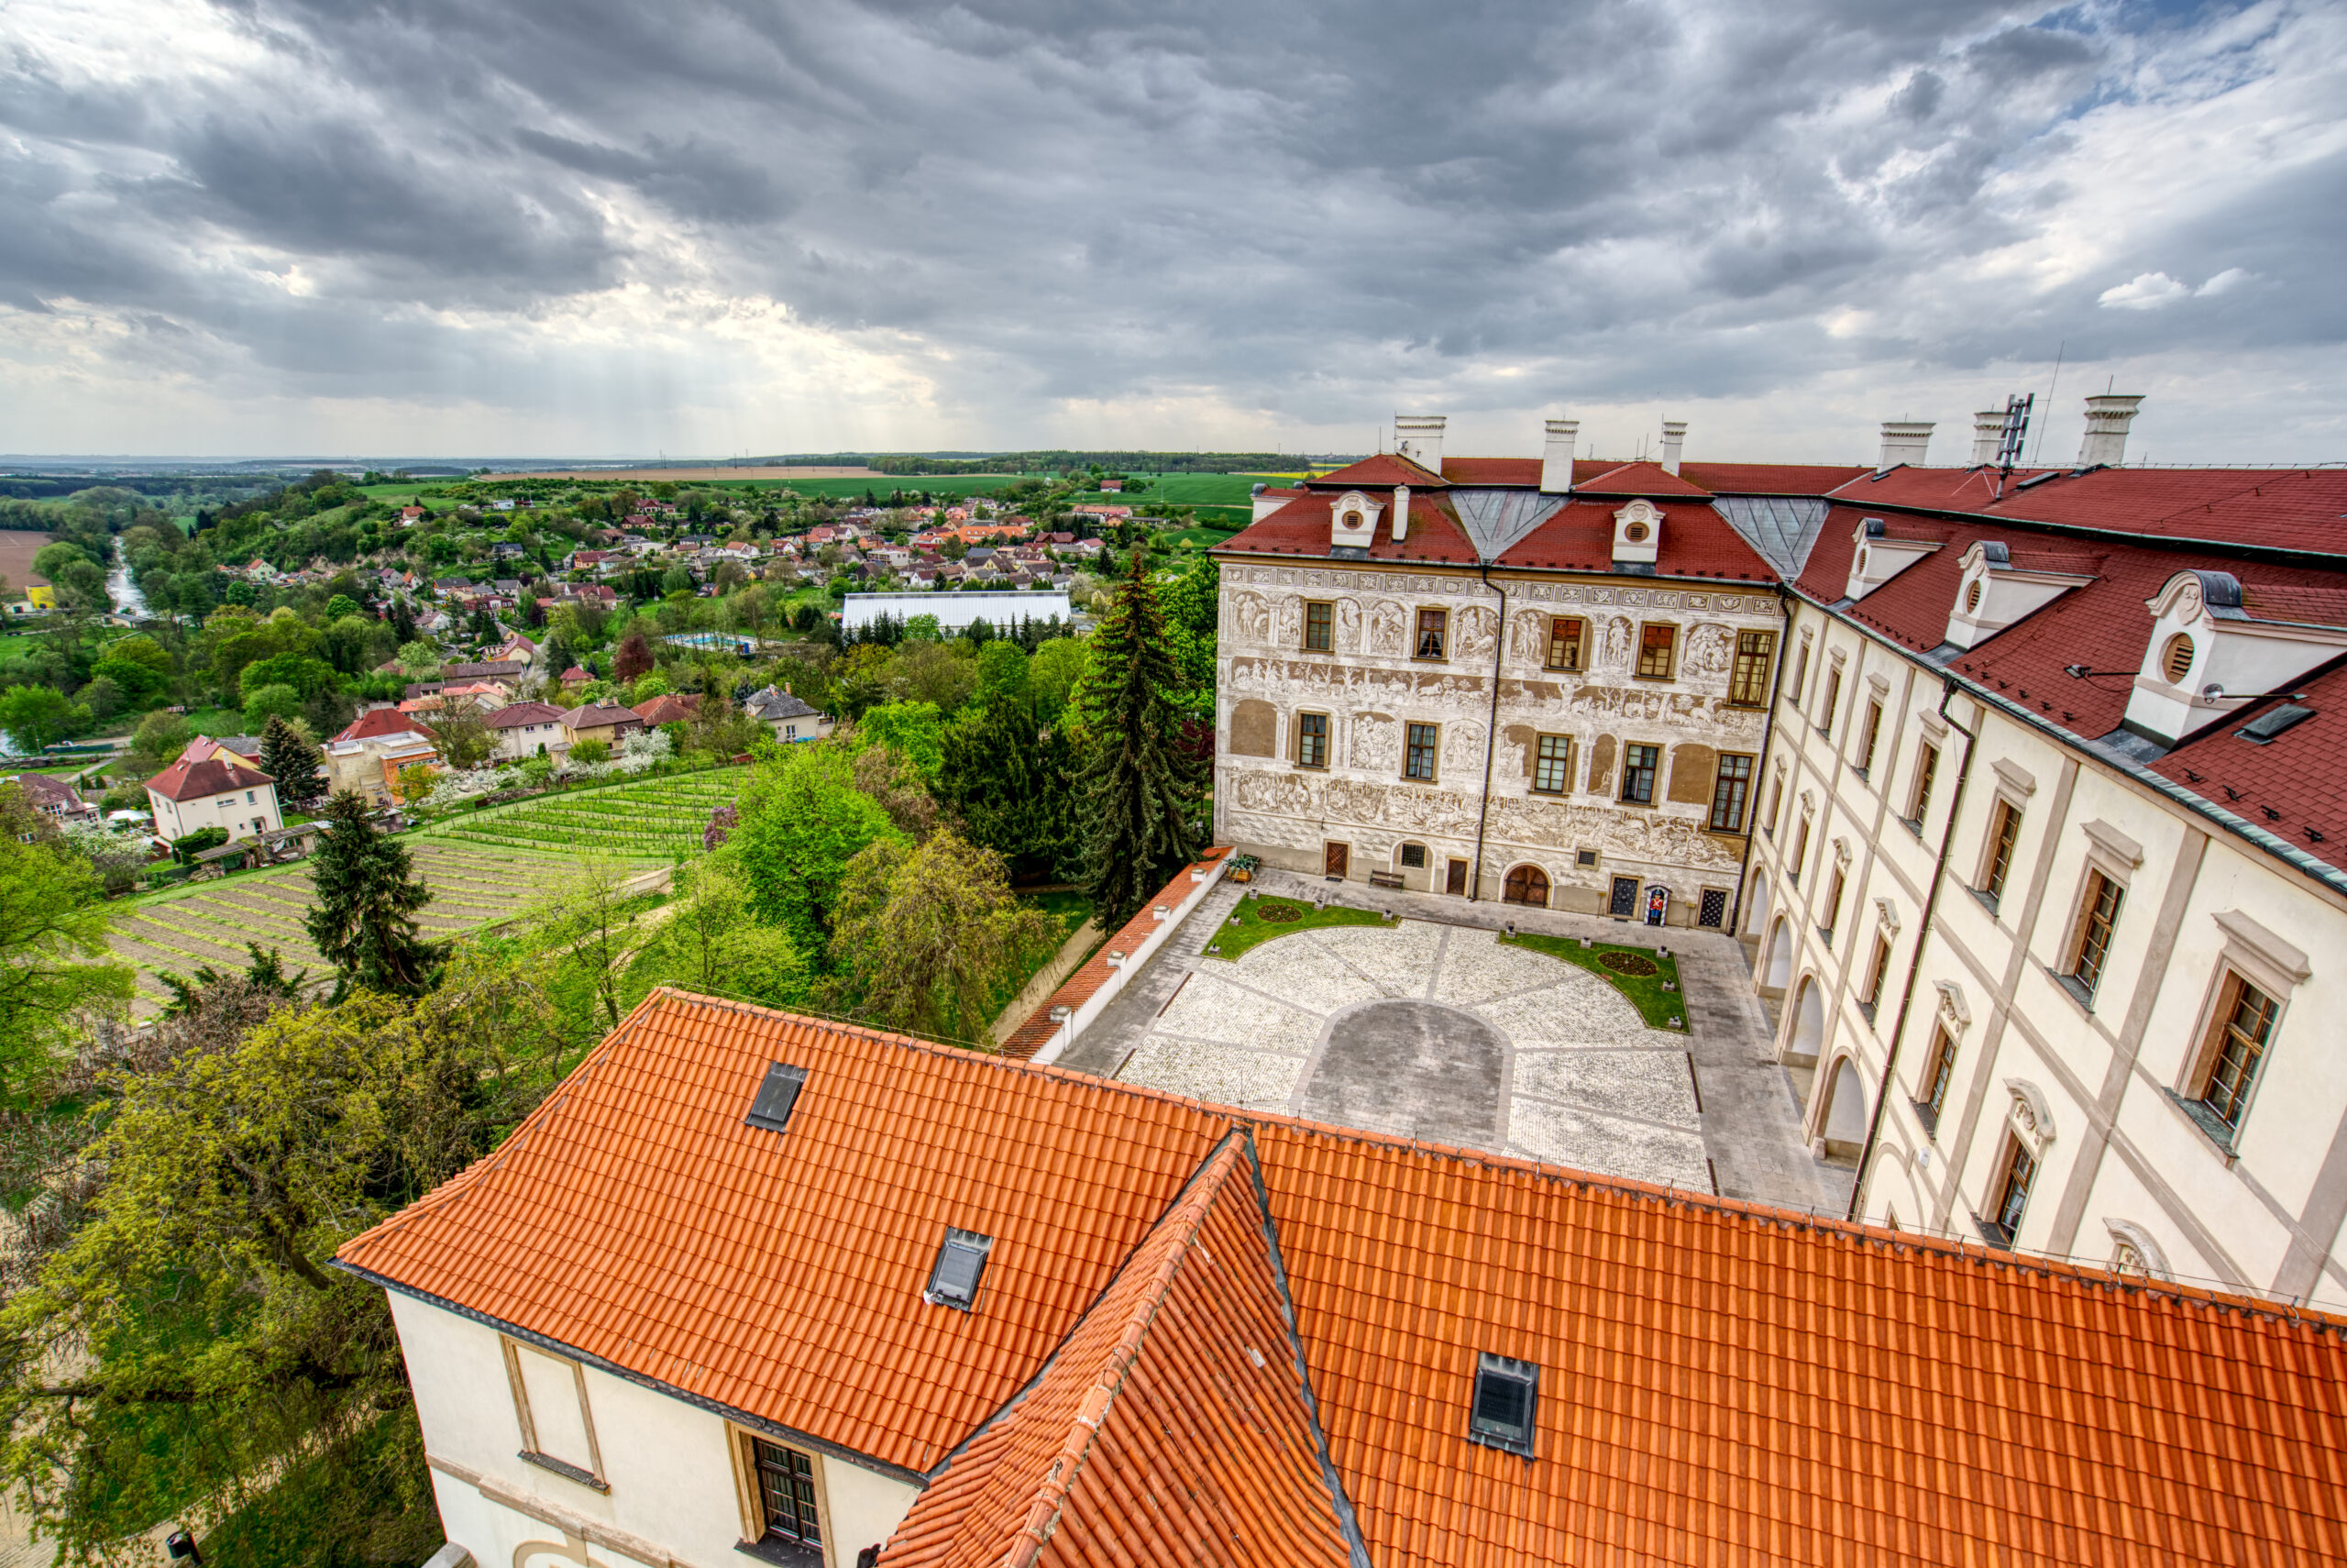
M711 807L730 803L744 782L742 770L728 768L584 789L411 833L415 871L432 887L420 925L432 937L453 937L509 920L545 897L584 850L643 861L697 854ZM138 969L131 1012L148 1016L171 1000L157 972L242 969L246 941L279 948L289 972L307 967L322 976L326 965L303 934L307 911L307 866L195 883L117 908L115 955Z

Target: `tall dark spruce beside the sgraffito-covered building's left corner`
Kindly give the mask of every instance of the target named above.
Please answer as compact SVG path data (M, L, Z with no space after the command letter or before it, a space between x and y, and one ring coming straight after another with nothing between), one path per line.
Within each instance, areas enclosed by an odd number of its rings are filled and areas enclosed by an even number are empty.
M1117 930L1197 859L1197 758L1181 744L1181 667L1148 563L1134 552L1091 634L1082 688L1084 880L1101 925Z

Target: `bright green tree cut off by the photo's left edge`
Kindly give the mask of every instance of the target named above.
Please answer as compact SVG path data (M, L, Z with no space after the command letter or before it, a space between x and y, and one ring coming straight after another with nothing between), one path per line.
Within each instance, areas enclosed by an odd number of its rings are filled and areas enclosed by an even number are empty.
M21 803L16 784L0 796ZM129 1000L131 972L108 962L108 913L89 861L49 838L0 840L0 1103L19 1106L77 1019Z

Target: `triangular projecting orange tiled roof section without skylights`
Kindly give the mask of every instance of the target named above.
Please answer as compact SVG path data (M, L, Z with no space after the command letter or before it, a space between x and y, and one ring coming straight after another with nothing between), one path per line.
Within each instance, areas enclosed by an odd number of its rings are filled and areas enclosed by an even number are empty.
M1350 1559L1237 1136L880 1556L887 1568Z

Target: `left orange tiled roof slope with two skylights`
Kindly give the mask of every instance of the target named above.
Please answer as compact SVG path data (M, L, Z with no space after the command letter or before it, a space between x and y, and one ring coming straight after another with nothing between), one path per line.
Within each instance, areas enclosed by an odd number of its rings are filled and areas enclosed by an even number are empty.
M786 1134L746 1127L807 1068ZM927 1472L1026 1383L1223 1127L1174 1099L655 991L507 1143L340 1263ZM974 1312L920 1300L995 1237Z

